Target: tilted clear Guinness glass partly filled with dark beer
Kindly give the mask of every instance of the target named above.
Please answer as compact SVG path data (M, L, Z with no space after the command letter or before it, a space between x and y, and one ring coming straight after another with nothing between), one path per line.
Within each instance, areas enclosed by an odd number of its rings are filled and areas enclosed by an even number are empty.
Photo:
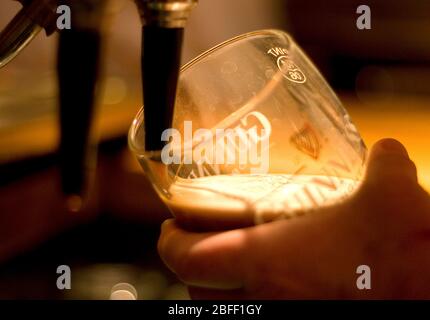
M140 110L129 145L193 229L291 218L342 201L363 173L366 147L348 113L279 30L235 37L182 68L160 152L145 150L145 121Z

